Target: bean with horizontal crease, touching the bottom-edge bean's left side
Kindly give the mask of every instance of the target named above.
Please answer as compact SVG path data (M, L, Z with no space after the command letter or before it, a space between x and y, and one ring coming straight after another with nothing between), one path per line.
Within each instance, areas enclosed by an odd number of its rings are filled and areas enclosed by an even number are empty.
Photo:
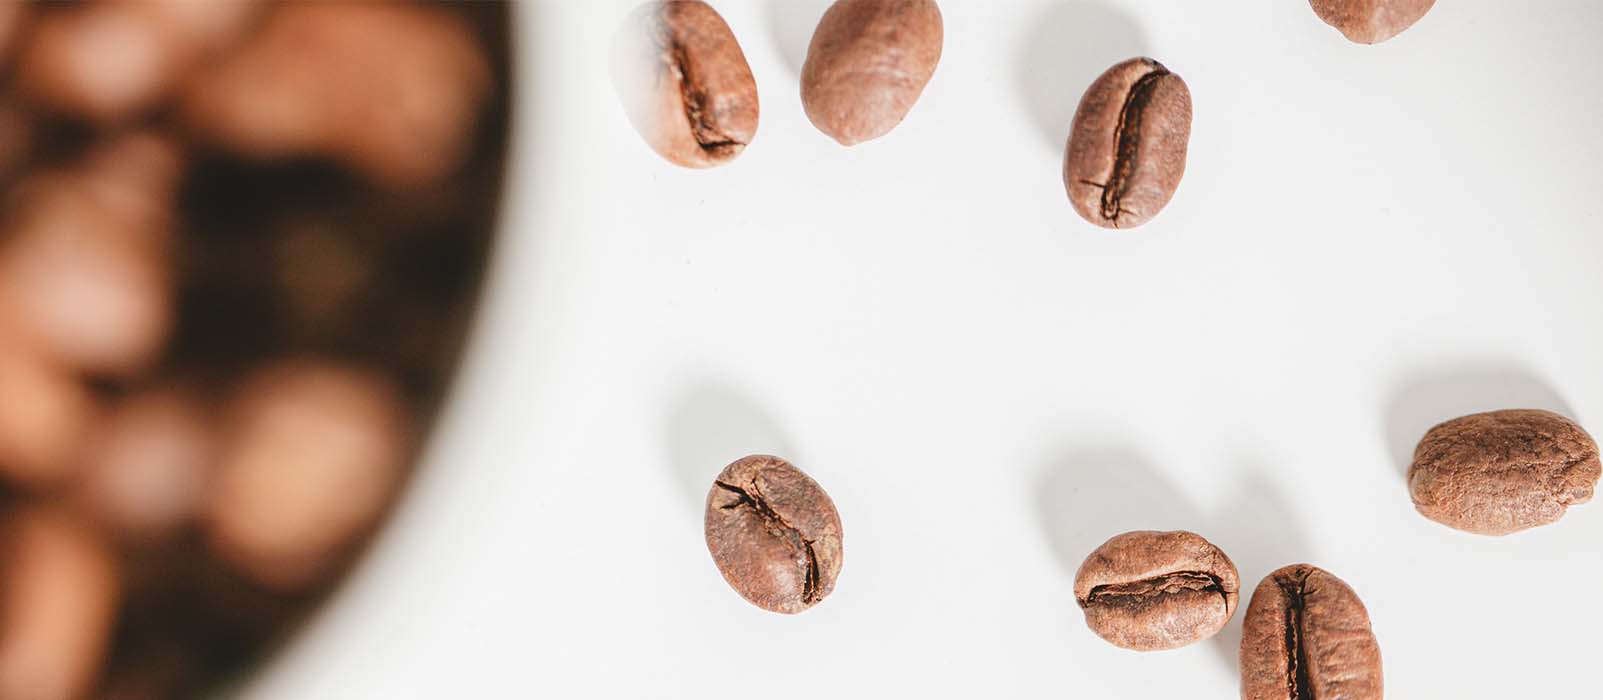
M1191 532L1127 532L1098 546L1074 575L1085 625L1138 652L1213 636L1236 614L1239 591L1230 557Z

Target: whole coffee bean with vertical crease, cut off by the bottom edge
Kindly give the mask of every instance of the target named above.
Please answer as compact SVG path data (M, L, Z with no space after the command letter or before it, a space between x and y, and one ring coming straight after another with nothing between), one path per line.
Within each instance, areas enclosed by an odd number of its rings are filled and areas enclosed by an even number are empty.
M1242 623L1241 697L1380 700L1380 647L1358 594L1308 564L1265 577Z

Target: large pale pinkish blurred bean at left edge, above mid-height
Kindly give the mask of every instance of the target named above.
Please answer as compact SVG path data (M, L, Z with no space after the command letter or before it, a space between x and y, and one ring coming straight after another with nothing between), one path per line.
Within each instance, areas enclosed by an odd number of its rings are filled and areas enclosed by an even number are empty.
M173 324L175 155L128 136L22 183L0 245L0 316L61 362L127 375Z

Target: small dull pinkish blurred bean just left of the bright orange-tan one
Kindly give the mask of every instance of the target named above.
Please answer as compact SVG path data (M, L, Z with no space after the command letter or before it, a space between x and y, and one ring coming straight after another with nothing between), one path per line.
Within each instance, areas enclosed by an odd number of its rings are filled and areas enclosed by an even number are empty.
M207 405L162 386L122 399L90 441L79 497L123 537L172 535L200 503L212 465Z

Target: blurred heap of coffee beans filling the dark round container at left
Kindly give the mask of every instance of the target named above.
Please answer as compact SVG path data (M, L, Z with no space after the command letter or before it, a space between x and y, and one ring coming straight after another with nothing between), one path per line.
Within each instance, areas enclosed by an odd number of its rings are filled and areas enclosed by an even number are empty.
M0 698L202 697L406 482L473 311L502 5L0 5Z

